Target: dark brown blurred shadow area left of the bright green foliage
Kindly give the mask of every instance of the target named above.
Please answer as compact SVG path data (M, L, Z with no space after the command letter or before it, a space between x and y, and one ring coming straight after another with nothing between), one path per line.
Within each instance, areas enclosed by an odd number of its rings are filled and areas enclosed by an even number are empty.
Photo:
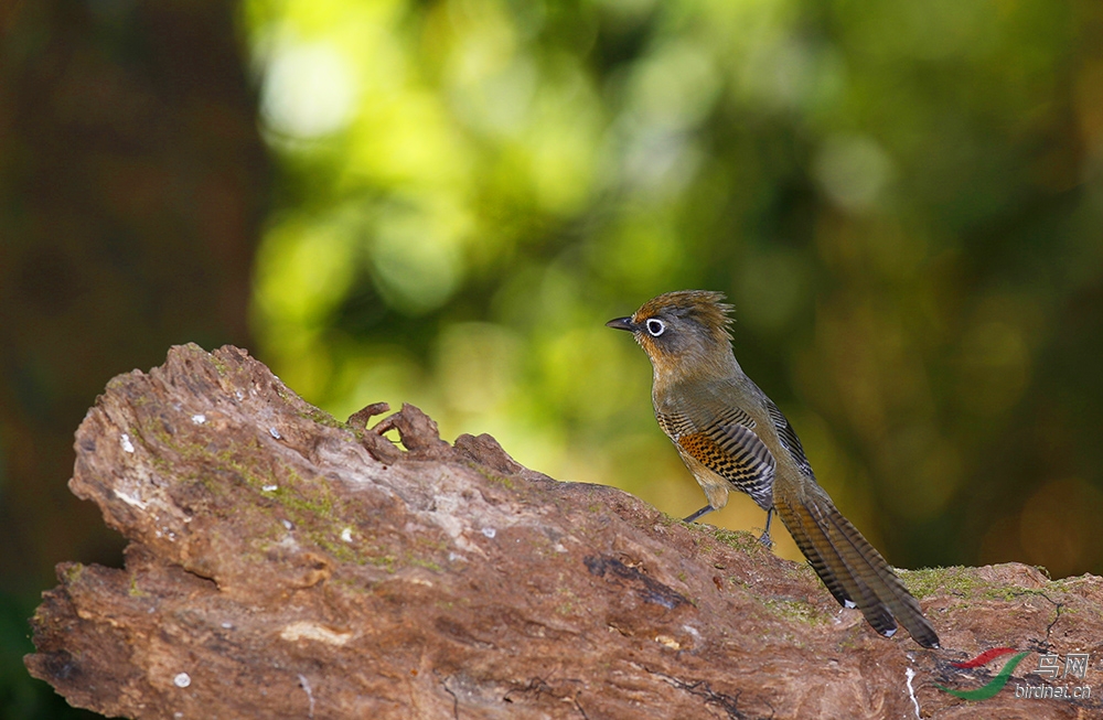
M250 344L270 169L233 10L0 3L3 718L68 717L21 659L53 565L121 561L121 538L66 487L84 413L171 344Z

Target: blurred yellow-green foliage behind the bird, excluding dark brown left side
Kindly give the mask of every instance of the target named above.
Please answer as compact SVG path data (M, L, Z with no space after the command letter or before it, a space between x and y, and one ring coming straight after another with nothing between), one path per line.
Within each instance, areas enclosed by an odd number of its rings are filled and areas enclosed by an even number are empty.
M646 359L602 323L719 289L893 562L1103 571L1103 6L247 0L242 26L281 175L254 331L309 400L414 402L681 515Z

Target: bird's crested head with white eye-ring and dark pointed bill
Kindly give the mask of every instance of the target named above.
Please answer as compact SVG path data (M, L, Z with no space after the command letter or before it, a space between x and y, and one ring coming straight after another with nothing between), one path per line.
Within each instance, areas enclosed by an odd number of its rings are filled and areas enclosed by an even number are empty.
M710 369L726 373L735 357L728 333L731 305L722 301L724 293L708 290L667 292L631 316L606 324L632 333L651 358L656 379Z

